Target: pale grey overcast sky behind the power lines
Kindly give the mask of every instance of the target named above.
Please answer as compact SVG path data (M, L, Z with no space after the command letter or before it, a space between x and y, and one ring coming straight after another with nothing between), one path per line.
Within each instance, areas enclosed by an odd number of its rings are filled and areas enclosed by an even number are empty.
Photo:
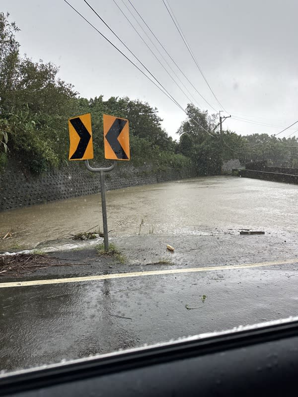
M124 6L127 4L133 11L128 0L88 1L185 108L189 100L115 5L117 2L148 41ZM220 110L163 1L131 1L197 90ZM69 2L133 59L83 0ZM157 107L165 130L177 138L175 132L185 114L63 0L1 0L0 3L1 11L8 11L10 20L15 20L21 29L17 34L21 54L59 65L60 77L74 84L83 97L129 96L149 102ZM168 0L168 3L210 86L233 115L225 126L242 134L271 134L298 120L297 0ZM138 18L135 12L134 15ZM164 54L160 47L159 50ZM154 48L153 51L159 57ZM168 58L167 61L195 97L195 104L215 113ZM161 62L166 66L162 59ZM294 127L279 136L291 132L295 135L298 127Z

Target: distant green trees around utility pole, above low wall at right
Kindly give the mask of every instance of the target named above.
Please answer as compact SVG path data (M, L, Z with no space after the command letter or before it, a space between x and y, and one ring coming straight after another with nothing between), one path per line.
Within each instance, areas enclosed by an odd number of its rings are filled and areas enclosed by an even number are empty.
M178 133L176 151L191 158L198 175L220 173L222 162L237 158L242 164L267 160L268 165L298 167L298 140L278 138L266 133L241 136L235 132L219 133L217 115L208 115L189 104L187 119ZM198 125L199 123L199 125Z

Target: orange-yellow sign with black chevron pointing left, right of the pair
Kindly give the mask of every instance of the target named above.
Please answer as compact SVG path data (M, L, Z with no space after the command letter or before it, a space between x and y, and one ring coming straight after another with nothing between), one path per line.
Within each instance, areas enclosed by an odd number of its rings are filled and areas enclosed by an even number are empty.
M103 115L103 140L106 159L130 160L128 120Z

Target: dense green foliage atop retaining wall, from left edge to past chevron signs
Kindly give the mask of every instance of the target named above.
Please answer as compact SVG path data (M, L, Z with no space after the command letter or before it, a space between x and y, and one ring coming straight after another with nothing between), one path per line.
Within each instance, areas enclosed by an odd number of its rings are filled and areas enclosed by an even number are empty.
M129 119L134 164L149 162L160 170L188 164L175 153L175 142L161 128L156 108L127 97L80 98L71 84L57 77L57 66L20 57L17 30L8 15L0 13L0 165L6 156L14 156L31 172L41 173L67 162L67 120L89 112L98 162L104 159L102 115L106 113Z

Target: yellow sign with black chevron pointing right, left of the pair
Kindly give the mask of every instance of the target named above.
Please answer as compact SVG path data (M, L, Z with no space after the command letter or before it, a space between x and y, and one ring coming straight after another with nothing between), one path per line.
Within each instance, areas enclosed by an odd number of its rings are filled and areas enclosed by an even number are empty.
M70 154L69 160L93 158L91 114L69 119Z

